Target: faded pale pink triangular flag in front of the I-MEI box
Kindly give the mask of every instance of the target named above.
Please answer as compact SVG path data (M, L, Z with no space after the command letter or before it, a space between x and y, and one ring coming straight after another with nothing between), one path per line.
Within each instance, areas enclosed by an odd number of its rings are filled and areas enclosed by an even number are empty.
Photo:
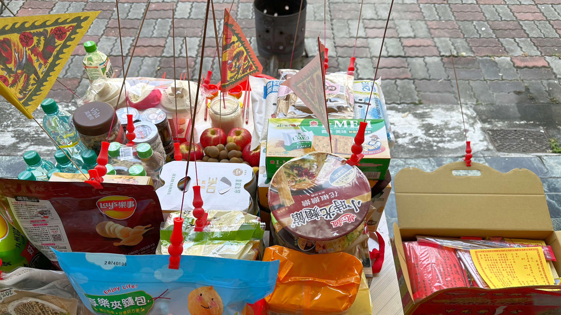
M319 39L318 39L319 42ZM307 108L321 121L323 126L329 126L327 109L325 108L325 47L319 43L319 53L302 70L280 85L288 86Z

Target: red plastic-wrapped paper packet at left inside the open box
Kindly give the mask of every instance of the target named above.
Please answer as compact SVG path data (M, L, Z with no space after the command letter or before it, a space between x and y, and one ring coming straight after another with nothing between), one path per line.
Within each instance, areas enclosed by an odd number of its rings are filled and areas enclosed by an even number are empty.
M403 242L413 300L447 288L470 286L453 248Z

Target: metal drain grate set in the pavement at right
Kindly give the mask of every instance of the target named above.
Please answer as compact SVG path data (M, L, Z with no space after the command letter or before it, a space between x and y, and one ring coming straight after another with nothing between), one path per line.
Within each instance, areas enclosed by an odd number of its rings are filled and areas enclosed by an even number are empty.
M550 152L548 135L539 130L488 129L495 149L500 152Z

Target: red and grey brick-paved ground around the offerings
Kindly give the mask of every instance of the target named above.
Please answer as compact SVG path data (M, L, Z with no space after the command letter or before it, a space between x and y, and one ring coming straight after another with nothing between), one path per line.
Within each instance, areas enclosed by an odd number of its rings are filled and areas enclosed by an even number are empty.
M65 12L102 11L83 41L94 40L121 71L114 1L4 0L18 16ZM121 0L119 12L123 45L130 51L140 25L145 0ZM216 0L223 16L231 0ZM136 48L129 76L167 77L173 74L171 8L175 5L177 76L185 71L188 50L191 73L198 73L205 2L153 0ZM365 0L358 24L360 0L328 0L327 47L329 71L346 71L358 26L356 76L373 78L389 0ZM4 11L2 16L10 13ZM256 47L251 0L234 0L232 15ZM218 25L222 20L217 21ZM306 50L317 53L315 37L324 30L324 1L309 0L306 16ZM220 33L220 30L218 31ZM561 0L395 0L384 44L380 69L389 119L396 135L390 169L405 166L424 170L458 160L465 154L462 116L450 50L454 55L459 90L473 160L502 172L523 167L544 183L551 217L561 229L561 157L551 154L505 154L494 149L487 129L532 129L561 140ZM187 47L183 44L187 36ZM323 35L321 36L323 37ZM215 52L214 29L207 31L204 68ZM255 49L256 50L256 49ZM78 47L59 79L78 95L88 87L82 68L84 49ZM261 58L263 59L263 58ZM299 68L309 60L295 61ZM127 61L126 61L127 62ZM264 68L269 69L263 59ZM280 64L287 67L287 64ZM218 73L218 65L213 67ZM274 73L267 73L275 75ZM215 75L214 81L218 80ZM73 95L56 83L50 97L68 103ZM65 105L73 109L72 105ZM53 147L40 129L2 104L0 115L0 175L13 176L22 169L19 156L38 149L52 156ZM41 110L35 112L41 118ZM393 206L392 206L393 205ZM386 207L388 223L396 220L393 194Z

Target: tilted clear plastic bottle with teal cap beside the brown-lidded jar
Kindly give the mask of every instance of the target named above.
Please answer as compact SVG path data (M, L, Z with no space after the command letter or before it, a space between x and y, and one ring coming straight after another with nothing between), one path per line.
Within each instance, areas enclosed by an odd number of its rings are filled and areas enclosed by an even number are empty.
M68 151L78 166L84 164L80 155L86 150L86 147L80 142L80 137L72 122L72 115L66 110L58 108L57 102L53 99L43 100L41 108L45 112L43 127L59 146Z

